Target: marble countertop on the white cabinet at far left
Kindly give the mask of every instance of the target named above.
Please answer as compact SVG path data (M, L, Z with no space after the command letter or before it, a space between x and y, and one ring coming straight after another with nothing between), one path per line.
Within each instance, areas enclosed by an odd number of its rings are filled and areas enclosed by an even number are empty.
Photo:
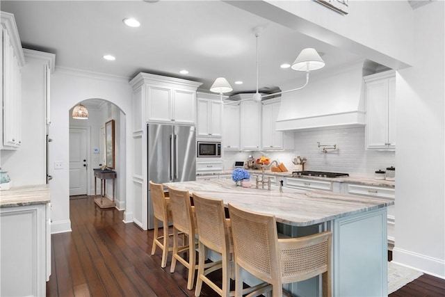
M47 184L35 186L16 186L0 191L0 207L20 207L51 202Z

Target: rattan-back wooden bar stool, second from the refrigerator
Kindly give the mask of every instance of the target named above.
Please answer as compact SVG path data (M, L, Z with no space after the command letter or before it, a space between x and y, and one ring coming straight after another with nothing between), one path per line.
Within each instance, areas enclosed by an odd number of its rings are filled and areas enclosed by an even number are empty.
M188 268L187 289L193 289L195 282L196 264L196 222L195 222L195 207L191 206L191 197L188 191L180 191L168 186L168 193L170 196L170 206L172 208L173 217L173 255L172 264L170 266L170 273L175 272L176 262ZM186 235L187 244L179 248L179 233ZM181 257L183 252L188 251L188 261L185 257Z

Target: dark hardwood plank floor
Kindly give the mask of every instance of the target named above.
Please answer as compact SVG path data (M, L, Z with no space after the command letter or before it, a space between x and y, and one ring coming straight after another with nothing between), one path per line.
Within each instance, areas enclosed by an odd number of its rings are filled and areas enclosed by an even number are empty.
M72 232L51 235L47 296L195 296L186 289L184 266L170 273L170 256L161 268L159 248L150 255L153 232L122 223L123 211L76 199L70 218ZM218 295L203 284L201 296ZM445 296L445 280L422 275L389 296Z

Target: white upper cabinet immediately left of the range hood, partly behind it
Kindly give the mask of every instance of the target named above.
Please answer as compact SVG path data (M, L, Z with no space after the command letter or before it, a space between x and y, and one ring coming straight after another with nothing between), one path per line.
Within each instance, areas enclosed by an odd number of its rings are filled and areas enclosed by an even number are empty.
M293 134L276 131L276 120L281 99L261 102L261 148L262 150L293 150Z

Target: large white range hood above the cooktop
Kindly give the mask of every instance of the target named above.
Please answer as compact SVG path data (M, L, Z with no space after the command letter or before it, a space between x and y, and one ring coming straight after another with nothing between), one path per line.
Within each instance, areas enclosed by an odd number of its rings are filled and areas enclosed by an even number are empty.
M364 61L360 61L334 74L312 75L305 88L282 95L277 130L364 126L366 113L363 77L372 73L364 70ZM282 89L291 88L292 86Z

